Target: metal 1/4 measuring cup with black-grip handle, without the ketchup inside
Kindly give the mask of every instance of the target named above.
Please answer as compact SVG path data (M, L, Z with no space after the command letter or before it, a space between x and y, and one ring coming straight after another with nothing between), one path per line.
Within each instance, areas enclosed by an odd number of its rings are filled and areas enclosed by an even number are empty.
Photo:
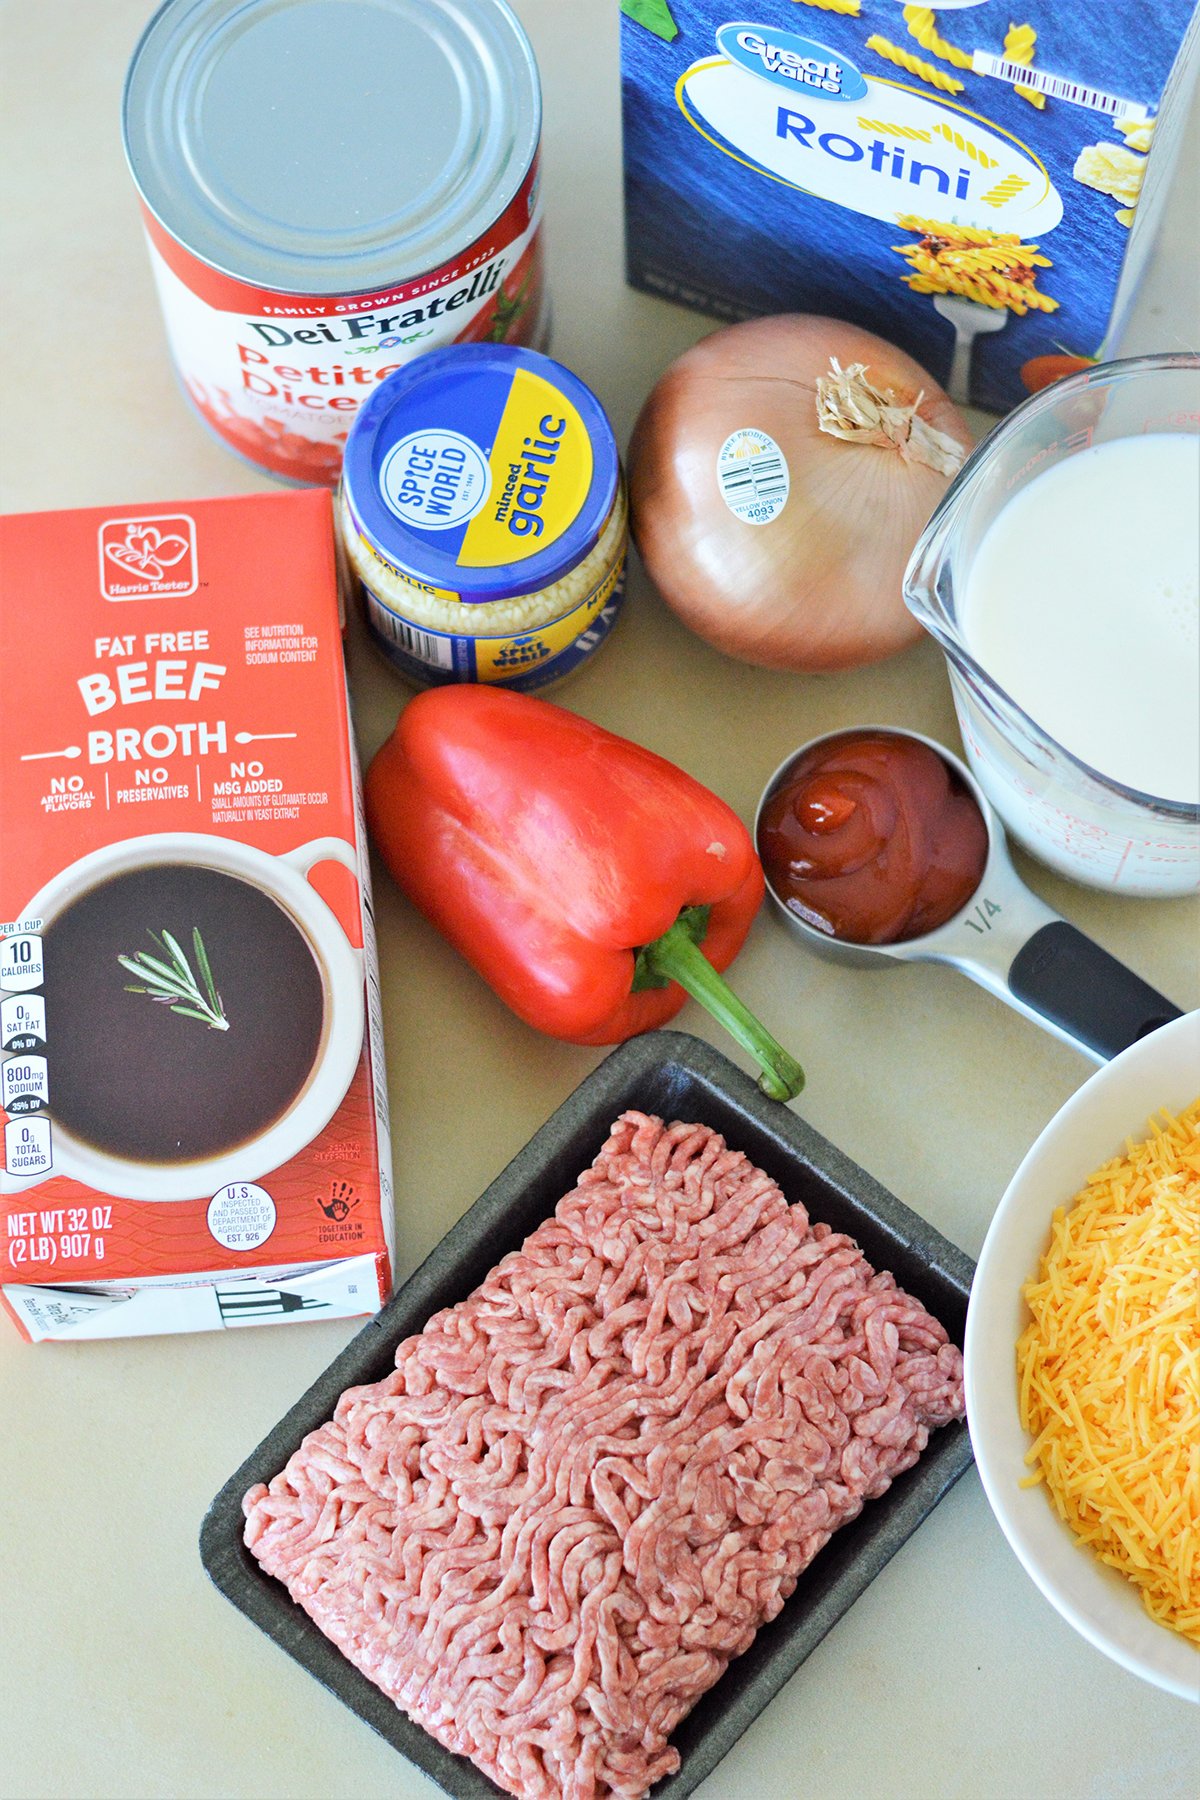
M784 904L770 871L765 871L766 891L792 931L811 950L862 968L878 968L885 963L950 963L1015 1012L1096 1062L1106 1062L1139 1037L1180 1017L1178 1006L1025 887L1009 860L1000 819L975 778L945 745L921 736L919 731L862 725L810 738L775 769L763 788L754 815L756 844L761 842L763 806L784 785L797 761L819 743L849 736L851 729L855 736L869 733L882 738L909 738L941 756L988 826L988 860L979 886L954 918L936 931L896 943L849 943L819 931Z

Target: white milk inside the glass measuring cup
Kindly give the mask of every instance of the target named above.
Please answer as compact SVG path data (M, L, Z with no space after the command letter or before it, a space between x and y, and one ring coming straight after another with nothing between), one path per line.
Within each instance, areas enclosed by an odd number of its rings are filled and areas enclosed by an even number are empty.
M995 517L959 596L979 666L1110 781L1200 799L1200 439L1092 445Z

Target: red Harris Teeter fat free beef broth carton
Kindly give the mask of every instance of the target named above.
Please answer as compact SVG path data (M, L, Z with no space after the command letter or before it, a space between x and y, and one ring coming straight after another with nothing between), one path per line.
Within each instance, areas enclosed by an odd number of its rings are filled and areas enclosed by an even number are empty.
M329 495L0 520L0 1296L374 1312L392 1192Z

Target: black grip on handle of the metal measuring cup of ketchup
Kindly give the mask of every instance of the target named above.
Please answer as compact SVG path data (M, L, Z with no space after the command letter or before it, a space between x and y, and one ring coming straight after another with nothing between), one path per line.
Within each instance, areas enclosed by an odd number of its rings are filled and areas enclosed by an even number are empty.
M1180 1010L1060 918L1034 931L1007 972L1018 1001L1051 1019L1099 1058L1115 1057Z

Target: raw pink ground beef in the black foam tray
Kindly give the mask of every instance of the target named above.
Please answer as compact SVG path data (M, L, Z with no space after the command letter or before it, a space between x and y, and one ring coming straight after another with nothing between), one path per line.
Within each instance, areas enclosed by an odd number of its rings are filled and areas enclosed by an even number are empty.
M642 1795L963 1359L705 1125L617 1120L520 1251L246 1494L246 1544L522 1800Z

